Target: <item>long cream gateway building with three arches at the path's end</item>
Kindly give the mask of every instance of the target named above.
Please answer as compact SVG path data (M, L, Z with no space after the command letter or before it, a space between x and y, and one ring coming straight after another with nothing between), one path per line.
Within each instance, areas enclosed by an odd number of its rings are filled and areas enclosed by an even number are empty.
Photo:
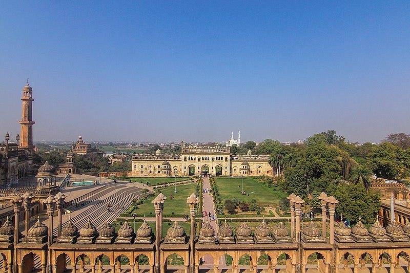
M186 146L181 154L138 154L132 157L133 176L258 176L272 175L269 155L231 155L230 147Z

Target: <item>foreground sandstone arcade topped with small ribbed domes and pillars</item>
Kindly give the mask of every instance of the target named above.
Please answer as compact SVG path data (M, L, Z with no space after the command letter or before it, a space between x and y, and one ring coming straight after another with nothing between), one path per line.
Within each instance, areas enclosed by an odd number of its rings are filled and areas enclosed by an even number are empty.
M49 223L54 213L63 211L65 196L58 193L44 200ZM5 272L73 273L90 270L118 273L127 270L137 273L166 273L183 270L198 273L201 269L211 272L234 272L248 269L272 272L408 272L410 261L410 224L403 228L395 221L386 228L376 221L370 228L359 221L351 229L333 217L338 201L326 194L320 195L322 221L313 220L301 229L300 214L304 201L296 196L288 197L291 206L290 230L278 222L273 229L264 220L255 229L243 222L234 234L224 221L218 231L208 223L202 223L199 235L188 237L178 222L168 229L165 236L155 237L144 221L137 230L127 220L118 230L105 224L98 231L88 221L83 227L75 226L75 219L59 224L57 236L49 233L52 226L37 221L29 227L25 221L23 236L19 234L19 214L24 207L31 212L29 195L15 196L10 200L16 223L10 219L0 227L0 254ZM191 230L194 230L194 212L198 199L193 194L187 199L191 211ZM166 199L158 195L152 201L155 209L156 231L161 234L162 210ZM329 219L327 217L329 216ZM28 218L26 218L28 219ZM330 223L330 230L326 222ZM328 225L329 225L328 224ZM16 235L16 237L14 237Z

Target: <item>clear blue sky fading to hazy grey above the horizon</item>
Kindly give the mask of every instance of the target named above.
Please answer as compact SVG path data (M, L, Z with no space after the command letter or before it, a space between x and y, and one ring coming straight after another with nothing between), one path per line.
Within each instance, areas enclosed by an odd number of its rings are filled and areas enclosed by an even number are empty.
M3 1L2 135L27 78L34 141L379 142L410 133L410 2Z

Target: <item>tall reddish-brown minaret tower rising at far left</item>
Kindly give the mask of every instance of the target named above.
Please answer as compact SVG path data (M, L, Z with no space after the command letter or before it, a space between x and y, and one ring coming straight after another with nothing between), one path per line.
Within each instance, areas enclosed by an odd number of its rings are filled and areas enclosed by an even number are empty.
M18 121L22 124L22 131L20 133L20 148L32 150L33 145L33 90L29 85L29 79L27 79L27 85L23 88L23 107L22 107L22 120Z

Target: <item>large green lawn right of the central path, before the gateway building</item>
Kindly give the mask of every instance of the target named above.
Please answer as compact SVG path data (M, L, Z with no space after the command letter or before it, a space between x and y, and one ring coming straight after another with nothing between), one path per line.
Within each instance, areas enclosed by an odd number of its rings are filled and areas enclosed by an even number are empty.
M243 191L246 192L245 195L241 194L241 177L217 177L215 182L222 203L224 200L236 198L243 202L250 202L252 199L255 199L258 204L278 204L279 200L286 196L278 187L267 187L252 177L243 178Z

